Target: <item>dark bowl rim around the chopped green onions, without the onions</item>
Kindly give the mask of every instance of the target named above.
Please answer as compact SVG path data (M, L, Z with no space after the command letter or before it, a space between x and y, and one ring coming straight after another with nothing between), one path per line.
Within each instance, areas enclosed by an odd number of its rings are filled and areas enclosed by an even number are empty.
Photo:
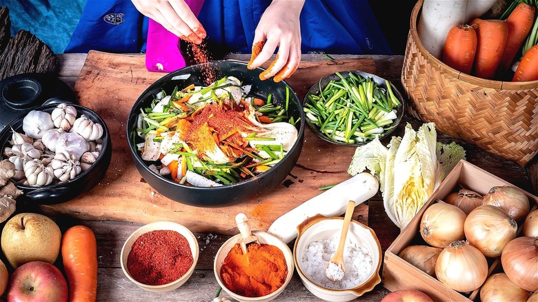
M341 71L339 73L341 74L342 77L348 78L349 77L349 72L351 72L352 74L355 74L355 75L358 74L361 77L363 77L364 79L370 78L370 79L372 79L372 81L374 81L376 83L377 86L379 86L381 88L385 88L385 89L387 88L387 85L385 83L385 79L383 79L383 78L381 78L381 77L379 77L379 76L377 76L375 74L371 74L371 73L368 73L368 72L363 72L363 71L360 71L360 70L355 70L355 71L345 70L345 71ZM308 96L309 95L312 95L312 94L319 95L319 92L323 91L323 89L326 88L326 86L328 85L328 83L330 81L339 81L339 80L340 80L340 77L338 77L338 75L336 73L329 74L328 76L321 78L319 81L317 81L317 83L312 85L310 90L308 90L308 92L306 93L306 95L304 97L304 103L309 102L308 101ZM403 112L405 112L405 103L404 103L403 97L401 96L401 93L395 87L395 85L392 84L392 83L390 83L390 89L392 89L392 92L395 94L397 99L400 101L400 104L396 108L397 118L394 121L392 121L392 124L390 124L392 126L392 128L390 128L390 130L385 131L382 134L380 134L379 139L383 139L385 137L388 137L388 135L390 133L392 133L397 128L397 125L400 123L401 118L403 117ZM315 124L311 123L310 119L308 119L307 116L305 116L305 119L306 119L306 124L308 125L308 128L310 128L310 130L312 130L312 132L314 132L314 134L316 134L317 137L319 137L320 139L323 139L323 141L327 141L328 143L334 143L336 145L359 146L359 145L365 145L366 143L368 143L370 141L370 140L366 140L366 141L359 142L359 143L346 143L346 142L343 142L343 141L336 141L336 140L330 139L329 137L326 136L326 134L324 134L323 132L321 132L319 130L318 125L315 125Z

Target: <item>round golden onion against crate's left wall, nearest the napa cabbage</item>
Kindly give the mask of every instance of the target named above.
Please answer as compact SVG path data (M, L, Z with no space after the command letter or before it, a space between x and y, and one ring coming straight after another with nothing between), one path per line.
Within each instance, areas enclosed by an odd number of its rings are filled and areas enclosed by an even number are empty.
M444 248L452 241L465 238L466 216L457 206L438 200L422 214L420 234L429 245Z

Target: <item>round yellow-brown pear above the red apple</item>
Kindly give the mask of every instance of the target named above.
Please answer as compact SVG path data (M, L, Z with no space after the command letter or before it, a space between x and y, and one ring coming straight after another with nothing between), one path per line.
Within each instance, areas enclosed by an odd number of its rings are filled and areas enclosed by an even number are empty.
M30 261L54 263L61 244L61 230L49 217L20 213L4 225L2 252L13 268Z

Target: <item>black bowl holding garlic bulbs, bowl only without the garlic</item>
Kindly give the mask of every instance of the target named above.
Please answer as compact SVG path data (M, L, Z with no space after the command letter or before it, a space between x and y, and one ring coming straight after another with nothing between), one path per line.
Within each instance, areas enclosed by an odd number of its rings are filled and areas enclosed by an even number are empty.
M40 110L50 113L52 112L52 110L54 110L54 108L57 107L58 103L61 102L66 101L55 99L54 101L49 101L46 105L35 108L34 110ZM101 143L101 152L99 154L99 157L97 158L97 161L95 161L90 166L90 168L88 168L88 170L81 172L81 174L77 175L77 177L75 177L74 179L70 179L69 181L63 183L36 187L31 185L23 185L21 183L17 183L17 181L10 179L10 181L12 181L12 183L14 183L17 188L19 188L19 190L23 191L23 194L17 197L17 203L23 202L28 206L39 204L50 205L56 203L63 203L65 201L73 199L74 197L77 197L79 194L88 192L95 185L97 185L97 183L99 183L99 181L101 181L101 179L103 179L103 177L105 176L105 172L108 169L108 165L110 165L110 157L112 156L110 132L108 132L108 128L105 121L103 121L103 119L101 119L101 117L99 117L97 113L82 105L77 105L70 102L66 103L69 103L69 105L72 105L74 108L77 108L77 117L80 117L81 114L84 114L90 120L100 123L103 126L103 136L101 137L103 142ZM10 143L8 143L8 141L11 140L11 129L19 133L24 133L22 130L22 125L23 119L24 117L26 117L26 114L27 113L21 114L19 115L19 117L13 119L0 132L0 150L3 151L4 148L10 146ZM1 154L0 159L3 159Z

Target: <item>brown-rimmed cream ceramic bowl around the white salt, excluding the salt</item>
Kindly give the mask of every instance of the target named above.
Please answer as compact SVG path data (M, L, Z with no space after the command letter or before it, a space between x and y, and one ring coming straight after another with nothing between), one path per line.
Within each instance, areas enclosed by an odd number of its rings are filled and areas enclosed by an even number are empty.
M379 268L381 268L381 245L375 232L366 225L352 220L349 226L347 238L359 247L368 248L372 256L372 265L369 266L366 278L353 288L332 289L325 288L312 281L306 272L306 265L303 263L303 254L312 241L322 241L324 239L336 238L339 240L342 228L343 217L325 217L316 215L303 221L297 226L298 236L293 248L293 258L295 268L301 277L303 285L315 296L326 301L350 301L369 292L375 285L381 282ZM345 256L345 254L344 254ZM346 268L348 272L350 268ZM321 272L325 274L325 272ZM344 278L346 278L344 276Z

